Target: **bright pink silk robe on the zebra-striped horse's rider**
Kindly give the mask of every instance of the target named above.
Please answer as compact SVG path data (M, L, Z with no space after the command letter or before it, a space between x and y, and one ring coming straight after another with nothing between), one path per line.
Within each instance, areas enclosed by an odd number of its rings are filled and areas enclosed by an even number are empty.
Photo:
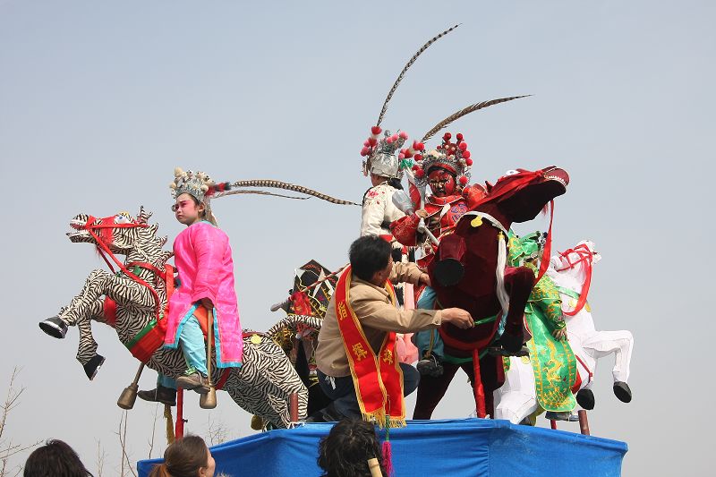
M174 254L181 284L169 301L165 346L178 346L183 323L202 298L209 298L214 303L217 367L241 366L243 339L228 236L209 222L199 222L176 236Z

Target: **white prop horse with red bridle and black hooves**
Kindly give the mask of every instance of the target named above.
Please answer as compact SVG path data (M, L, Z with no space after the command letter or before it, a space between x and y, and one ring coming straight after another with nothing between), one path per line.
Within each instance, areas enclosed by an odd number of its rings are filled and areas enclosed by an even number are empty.
M624 403L632 399L629 379L634 337L630 331L597 331L587 294L592 282L592 265L601 260L594 243L582 241L550 259L547 275L558 286L562 299L562 311L567 320L569 345L577 359L577 369L582 380L576 395L577 403L584 409L594 408L592 393L593 377L600 358L615 355L612 375L615 396ZM529 360L511 357L505 384L495 391L495 418L510 422L522 422L535 413L539 405L534 392L533 368Z

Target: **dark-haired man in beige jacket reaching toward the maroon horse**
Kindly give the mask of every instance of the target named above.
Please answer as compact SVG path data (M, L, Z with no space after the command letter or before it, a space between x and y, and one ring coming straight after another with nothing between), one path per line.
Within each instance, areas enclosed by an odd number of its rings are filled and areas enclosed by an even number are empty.
M458 328L474 326L470 313L459 308L398 310L385 288L386 281L430 285L430 277L413 263L394 263L390 244L383 239L373 235L363 236L351 244L349 255L353 273L350 306L360 321L362 332L373 353L379 353L390 331L413 333L438 328L440 323L452 323ZM308 421L325 422L337 421L345 416L360 417L351 367L338 328L335 295L328 303L320 328L316 364L320 388L333 402L314 413ZM403 362L400 367L403 371L404 395L407 396L417 388L420 373Z

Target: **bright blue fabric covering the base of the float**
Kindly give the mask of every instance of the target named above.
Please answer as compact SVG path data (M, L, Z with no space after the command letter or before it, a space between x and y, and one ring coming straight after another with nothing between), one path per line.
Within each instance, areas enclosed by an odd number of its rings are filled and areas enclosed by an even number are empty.
M331 426L271 430L211 447L217 473L318 476L318 444ZM384 437L383 431L379 437ZM620 475L626 454L626 443L618 440L490 419L409 421L406 428L390 430L390 442L396 477ZM140 461L139 475L148 475L159 462Z

